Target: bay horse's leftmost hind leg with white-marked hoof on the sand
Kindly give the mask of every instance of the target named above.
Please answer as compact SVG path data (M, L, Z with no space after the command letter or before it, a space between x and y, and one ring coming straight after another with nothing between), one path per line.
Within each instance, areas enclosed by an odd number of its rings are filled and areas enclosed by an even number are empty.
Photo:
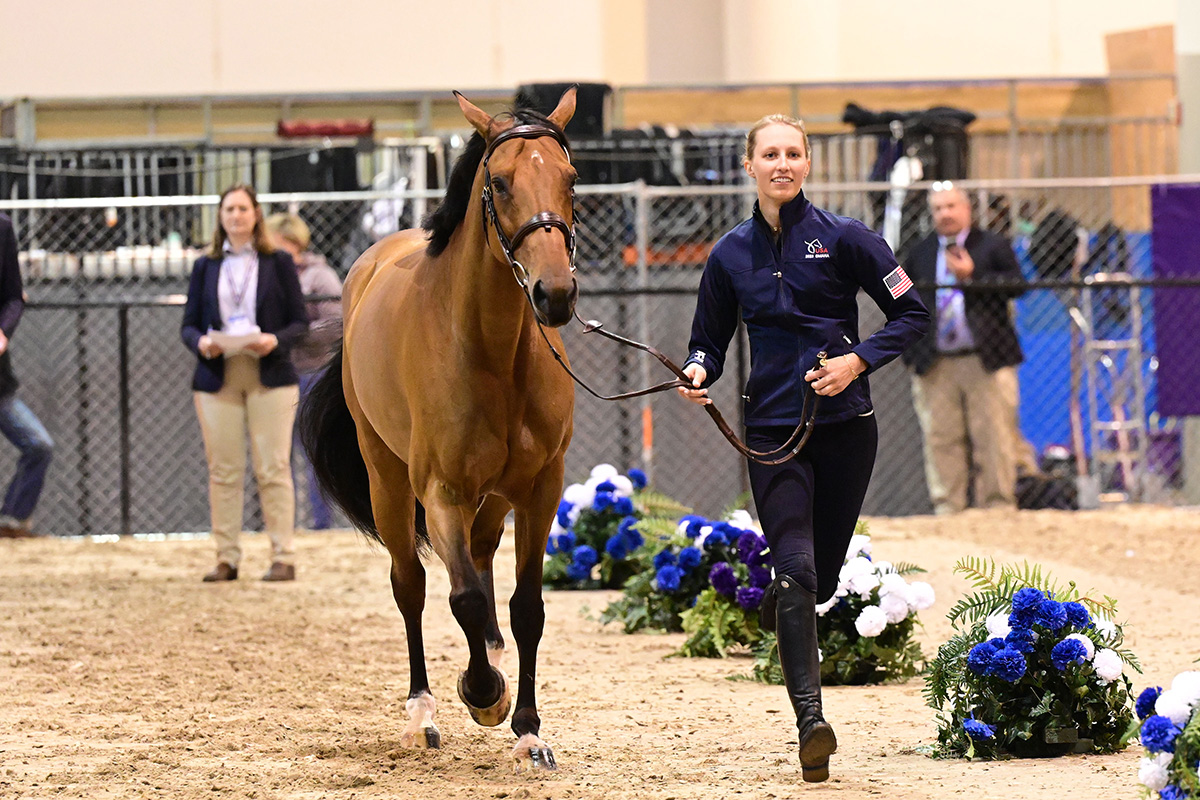
M416 501L408 469L371 431L359 428L359 443L371 475L371 506L376 525L391 554L391 594L404 618L408 642L408 724L400 738L403 747L440 747L442 735L433 723L437 703L425 670L425 566L416 552Z

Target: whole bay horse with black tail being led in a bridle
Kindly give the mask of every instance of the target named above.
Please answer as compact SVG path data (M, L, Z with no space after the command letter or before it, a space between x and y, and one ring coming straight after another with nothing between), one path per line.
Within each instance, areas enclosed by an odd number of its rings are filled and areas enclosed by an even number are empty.
M475 134L425 227L380 240L350 269L341 349L304 403L301 435L323 489L391 555L408 639L403 746L440 746L421 636L420 557L430 546L450 575L450 609L470 654L458 697L479 724L508 717L492 560L515 512L512 758L554 769L539 738L534 680L542 557L575 403L547 347L563 351L554 329L571 319L578 294L576 174L563 133L575 90L548 116L493 118L455 96Z

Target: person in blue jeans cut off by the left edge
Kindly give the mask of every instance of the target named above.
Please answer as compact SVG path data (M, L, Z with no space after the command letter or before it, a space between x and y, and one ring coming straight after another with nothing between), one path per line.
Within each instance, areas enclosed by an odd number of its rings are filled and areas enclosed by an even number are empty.
M12 371L8 342L24 311L17 235L12 219L0 213L0 433L20 451L17 471L0 506L0 539L28 539L34 535L29 521L42 495L46 471L54 452L54 441L46 426L17 397L17 377Z

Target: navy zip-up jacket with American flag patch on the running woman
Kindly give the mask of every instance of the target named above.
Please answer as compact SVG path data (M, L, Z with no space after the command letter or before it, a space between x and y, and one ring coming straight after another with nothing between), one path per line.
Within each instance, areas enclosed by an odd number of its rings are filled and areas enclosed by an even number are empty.
M800 192L779 212L779 247L755 204L754 216L713 247L700 281L690 351L684 363L721 377L738 312L750 335L746 425L798 425L817 353L856 353L866 372L899 356L929 329L929 312L883 237L858 219L830 213ZM888 321L858 339L858 290ZM871 411L866 373L833 397L821 397L817 423Z

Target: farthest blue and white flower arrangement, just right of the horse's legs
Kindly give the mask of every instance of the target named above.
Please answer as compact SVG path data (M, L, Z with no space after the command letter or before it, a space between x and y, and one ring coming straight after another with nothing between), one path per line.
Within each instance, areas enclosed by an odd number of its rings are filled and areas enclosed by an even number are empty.
M598 464L587 481L563 491L546 542L542 584L554 589L618 589L643 567L643 528L688 511L647 487L640 469L622 475Z

